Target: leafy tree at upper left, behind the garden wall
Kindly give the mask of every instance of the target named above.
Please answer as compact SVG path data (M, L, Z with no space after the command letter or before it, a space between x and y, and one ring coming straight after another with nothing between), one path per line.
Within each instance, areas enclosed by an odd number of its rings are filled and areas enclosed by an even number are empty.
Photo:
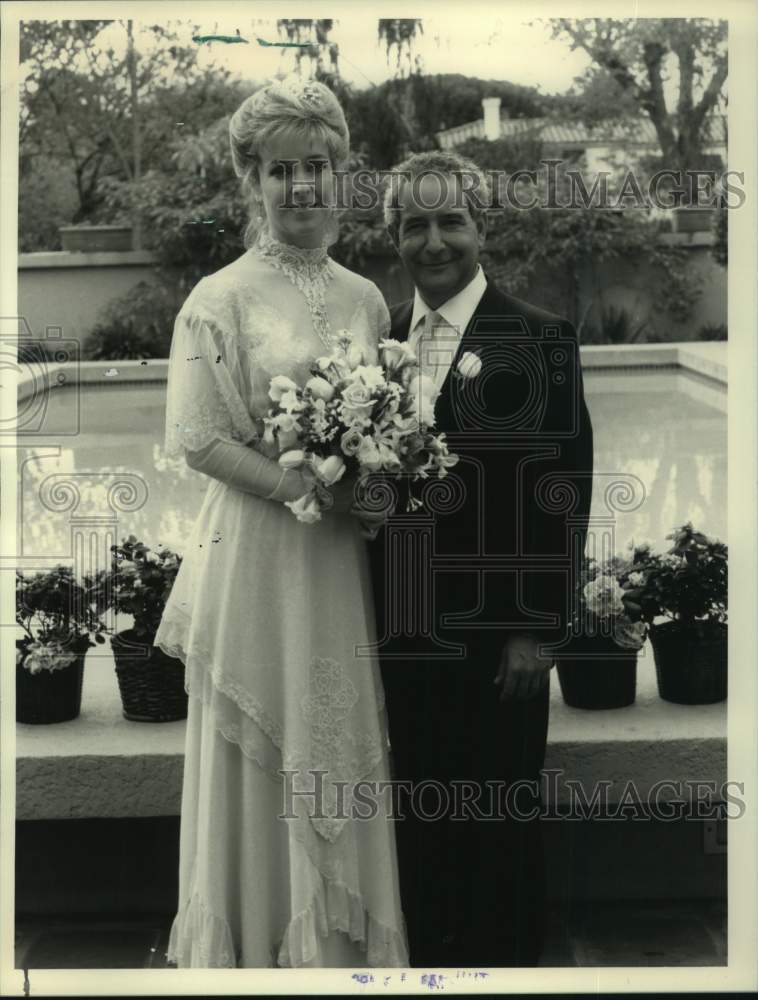
M75 222L96 217L104 178L133 178L160 157L166 135L182 120L172 120L166 101L171 82L178 90L184 81L224 72L200 73L196 46L180 42L175 24L144 26L134 47L129 30L121 21L21 24L22 178L41 159L71 170L79 199ZM122 36L123 55L114 33ZM196 110L202 114L202 107Z

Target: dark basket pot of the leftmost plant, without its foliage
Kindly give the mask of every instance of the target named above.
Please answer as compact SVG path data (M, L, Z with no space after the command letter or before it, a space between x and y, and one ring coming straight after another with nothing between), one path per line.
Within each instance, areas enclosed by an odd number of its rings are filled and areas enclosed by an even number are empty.
M22 652L27 640L16 640L16 649ZM76 719L82 707L82 681L84 657L89 649L87 636L80 637L71 646L76 659L62 670L40 670L33 674L23 661L16 665L16 722L43 726L54 722Z

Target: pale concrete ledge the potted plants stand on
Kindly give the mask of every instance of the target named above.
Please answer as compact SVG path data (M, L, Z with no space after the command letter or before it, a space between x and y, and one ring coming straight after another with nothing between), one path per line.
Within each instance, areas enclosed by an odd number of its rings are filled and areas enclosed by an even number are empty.
M611 782L618 802L629 781L644 796L658 781L726 780L726 703L672 705L658 697L652 651L638 662L637 701L612 711L583 711L563 703L552 675L546 770L562 772L591 794ZM17 726L16 817L173 816L181 807L184 722L129 722L109 648L87 657L82 714L54 726ZM673 798L673 791L663 798Z

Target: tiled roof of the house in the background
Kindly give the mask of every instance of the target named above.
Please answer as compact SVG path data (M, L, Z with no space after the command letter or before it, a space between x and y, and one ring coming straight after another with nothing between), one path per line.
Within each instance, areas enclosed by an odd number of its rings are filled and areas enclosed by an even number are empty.
M532 135L546 143L597 143L607 145L618 143L623 145L658 144L655 127L649 118L637 118L627 121L614 120L601 122L594 127L578 121L560 121L555 118L503 118L500 119L500 135L503 138L515 135ZM447 149L457 146L466 139L483 139L484 122L466 122L455 128L437 132L440 145ZM726 119L724 115L711 115L705 121L703 141L706 145L721 145L726 142Z

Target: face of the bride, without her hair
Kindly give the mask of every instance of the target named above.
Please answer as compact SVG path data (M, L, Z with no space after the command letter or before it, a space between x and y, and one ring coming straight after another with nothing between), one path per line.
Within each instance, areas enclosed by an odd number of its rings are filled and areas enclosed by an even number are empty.
M260 152L259 179L274 239L320 246L331 217L334 184L326 143L307 136L271 139Z

